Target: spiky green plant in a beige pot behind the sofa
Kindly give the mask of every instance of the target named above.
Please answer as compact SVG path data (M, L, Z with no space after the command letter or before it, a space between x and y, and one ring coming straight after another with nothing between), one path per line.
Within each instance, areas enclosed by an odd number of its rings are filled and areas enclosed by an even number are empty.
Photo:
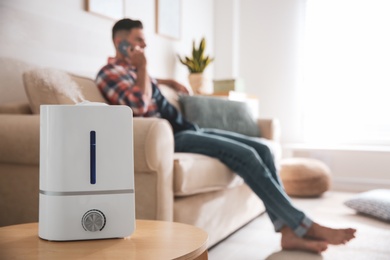
M180 62L188 68L190 72L188 80L194 93L203 94L207 92L206 79L203 75L206 67L214 60L210 56L204 54L206 48L206 39L203 37L199 47L195 45L195 40L192 42L192 56L181 58L178 55Z

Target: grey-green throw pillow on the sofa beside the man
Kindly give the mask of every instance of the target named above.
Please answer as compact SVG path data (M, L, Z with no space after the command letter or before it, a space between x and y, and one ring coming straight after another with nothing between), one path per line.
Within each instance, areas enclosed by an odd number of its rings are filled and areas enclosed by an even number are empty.
M181 96L179 102L185 118L201 128L260 136L255 118L244 102L205 96Z

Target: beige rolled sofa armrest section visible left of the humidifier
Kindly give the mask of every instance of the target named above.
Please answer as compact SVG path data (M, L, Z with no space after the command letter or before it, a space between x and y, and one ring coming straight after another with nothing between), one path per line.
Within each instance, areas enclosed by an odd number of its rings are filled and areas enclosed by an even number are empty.
M0 114L0 162L39 165L39 115Z

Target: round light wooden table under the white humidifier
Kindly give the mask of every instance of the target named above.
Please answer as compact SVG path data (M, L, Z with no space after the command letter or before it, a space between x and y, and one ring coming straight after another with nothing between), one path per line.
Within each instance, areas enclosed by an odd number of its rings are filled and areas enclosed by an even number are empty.
M0 259L197 259L207 260L205 231L186 224L137 220L126 238L52 242L38 223L0 228Z

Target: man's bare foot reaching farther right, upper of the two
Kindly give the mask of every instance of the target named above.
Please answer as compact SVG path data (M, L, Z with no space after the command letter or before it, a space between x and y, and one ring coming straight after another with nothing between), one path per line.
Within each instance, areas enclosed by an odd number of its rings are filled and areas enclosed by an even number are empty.
M353 239L355 232L356 229L353 228L333 229L313 223L305 237L324 240L332 245L341 245Z

